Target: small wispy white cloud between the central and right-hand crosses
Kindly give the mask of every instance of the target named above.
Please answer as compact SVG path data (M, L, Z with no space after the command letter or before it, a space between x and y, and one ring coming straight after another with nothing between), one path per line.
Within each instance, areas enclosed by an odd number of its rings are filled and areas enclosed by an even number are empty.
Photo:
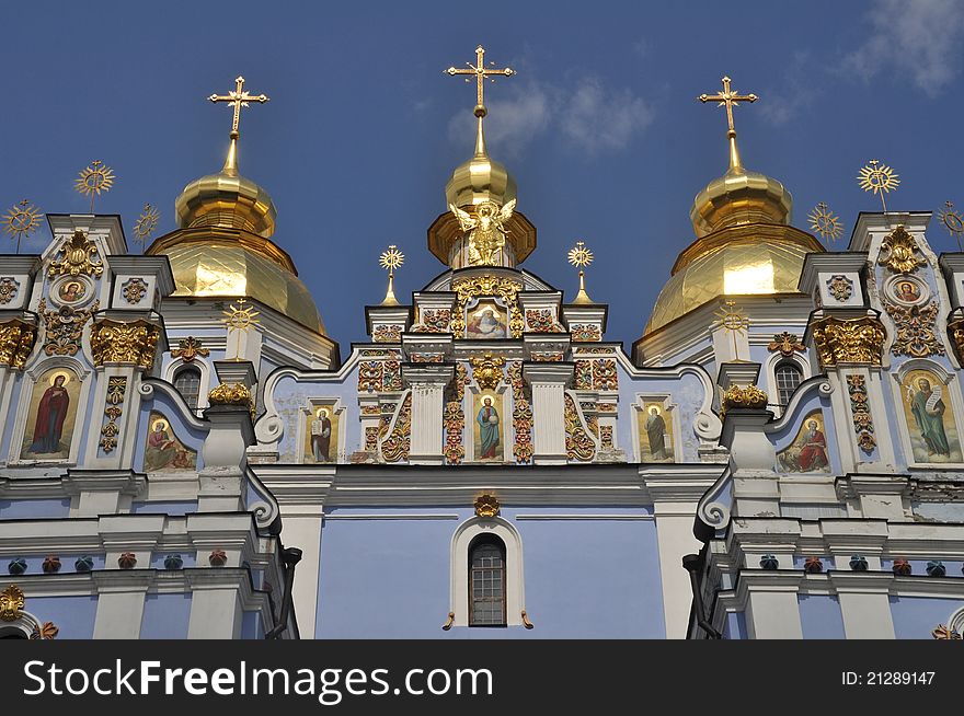
M610 91L599 80L576 85L560 124L563 134L589 153L618 151L653 122L653 111L629 90Z

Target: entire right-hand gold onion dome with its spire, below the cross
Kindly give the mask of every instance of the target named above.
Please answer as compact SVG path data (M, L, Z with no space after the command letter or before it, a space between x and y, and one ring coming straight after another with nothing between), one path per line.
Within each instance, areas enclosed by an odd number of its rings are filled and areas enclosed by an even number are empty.
M797 293L804 257L824 251L814 236L789 226L790 192L745 169L736 132L727 136L730 169L693 199L697 240L676 259L644 335L721 296Z

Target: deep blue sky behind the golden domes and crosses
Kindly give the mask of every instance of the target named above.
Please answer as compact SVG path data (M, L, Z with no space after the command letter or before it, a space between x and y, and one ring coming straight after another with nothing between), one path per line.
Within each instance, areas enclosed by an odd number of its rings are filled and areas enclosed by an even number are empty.
M364 340L385 293L378 254L406 262L400 298L444 266L426 229L472 150L473 90L443 69L486 59L518 71L487 88L490 152L538 229L524 268L575 295L565 253L595 252L589 295L610 339L638 338L676 255L693 239L696 193L726 168L725 117L696 97L728 74L760 101L736 109L744 163L793 194L794 226L817 201L880 210L856 175L870 159L900 175L892 210L964 209L964 3L868 2L134 2L4 8L3 211L27 197L85 212L72 189L94 159L114 168L96 204L128 242L145 203L174 229L174 199L217 171L230 111L213 92L271 96L244 111L241 172L278 208L329 334ZM936 250L955 247L937 221ZM46 227L23 251L39 252ZM8 241L3 236L3 241ZM8 244L11 246L12 244Z

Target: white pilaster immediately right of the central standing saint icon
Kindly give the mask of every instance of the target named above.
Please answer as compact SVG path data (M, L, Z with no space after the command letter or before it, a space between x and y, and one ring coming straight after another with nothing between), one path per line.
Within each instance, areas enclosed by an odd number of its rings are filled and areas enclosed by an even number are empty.
M565 386L573 363L523 365L523 377L532 386L532 444L536 464L565 464Z

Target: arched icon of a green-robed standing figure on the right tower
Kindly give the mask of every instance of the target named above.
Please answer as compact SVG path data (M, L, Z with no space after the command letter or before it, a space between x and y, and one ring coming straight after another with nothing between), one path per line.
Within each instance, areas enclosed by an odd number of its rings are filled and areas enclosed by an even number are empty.
M914 370L904 383L904 409L914 459L961 462L961 444L946 386L927 370Z

